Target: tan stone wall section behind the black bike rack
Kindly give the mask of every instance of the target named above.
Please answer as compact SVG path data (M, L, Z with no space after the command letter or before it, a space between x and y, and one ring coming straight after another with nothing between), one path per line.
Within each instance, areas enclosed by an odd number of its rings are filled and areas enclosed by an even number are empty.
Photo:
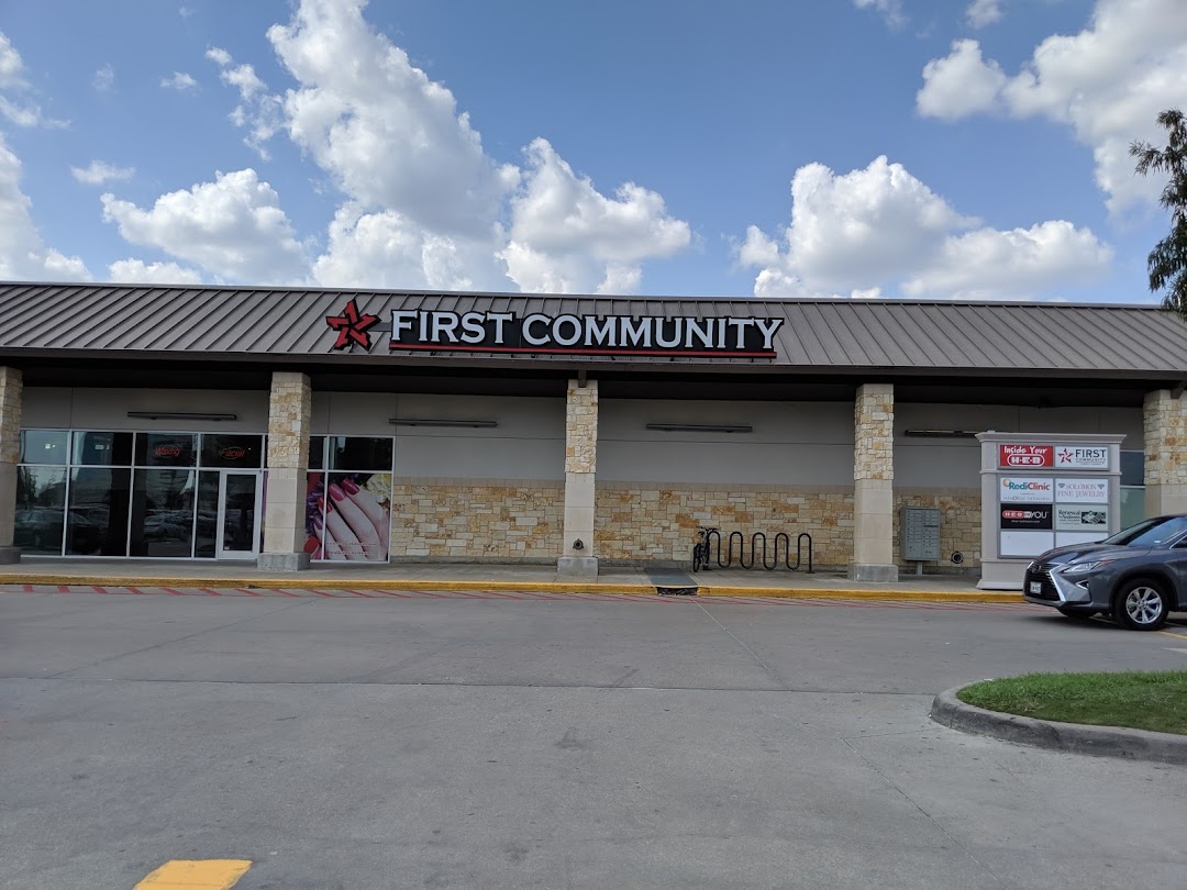
M680 485L603 482L597 485L595 540L602 559L677 561L692 559L698 526L717 526L723 546L730 532L762 532L768 547L776 532L812 535L817 566L844 566L853 553L853 491L844 485ZM770 559L774 551L769 549ZM805 559L807 557L805 555Z

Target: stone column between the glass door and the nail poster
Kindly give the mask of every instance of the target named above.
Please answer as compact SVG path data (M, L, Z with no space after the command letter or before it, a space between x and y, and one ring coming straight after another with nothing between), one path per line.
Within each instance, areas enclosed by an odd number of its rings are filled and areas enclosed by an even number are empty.
M309 567L305 542L305 476L312 390L297 371L274 371L268 401L268 490L260 568Z

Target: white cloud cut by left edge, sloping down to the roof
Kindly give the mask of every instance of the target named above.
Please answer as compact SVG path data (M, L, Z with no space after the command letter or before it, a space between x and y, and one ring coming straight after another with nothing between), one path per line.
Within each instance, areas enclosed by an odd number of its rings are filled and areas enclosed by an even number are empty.
M77 256L47 248L20 190L20 160L0 136L0 280L89 281Z

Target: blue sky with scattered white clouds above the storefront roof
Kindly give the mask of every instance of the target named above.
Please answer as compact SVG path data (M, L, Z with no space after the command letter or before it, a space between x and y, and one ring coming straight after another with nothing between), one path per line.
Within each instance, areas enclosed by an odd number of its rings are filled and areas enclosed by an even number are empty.
M0 2L0 278L1143 303L1182 0Z

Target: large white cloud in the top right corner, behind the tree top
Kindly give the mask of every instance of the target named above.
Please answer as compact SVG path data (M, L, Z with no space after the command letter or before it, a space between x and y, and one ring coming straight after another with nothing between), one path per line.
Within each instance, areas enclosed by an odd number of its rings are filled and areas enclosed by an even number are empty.
M1155 117L1187 96L1187 2L1098 0L1088 27L1045 39L1007 77L973 40L957 42L923 69L919 112L956 120L983 112L1041 116L1092 148L1111 211L1151 202L1162 184L1135 177L1129 145L1157 141Z

